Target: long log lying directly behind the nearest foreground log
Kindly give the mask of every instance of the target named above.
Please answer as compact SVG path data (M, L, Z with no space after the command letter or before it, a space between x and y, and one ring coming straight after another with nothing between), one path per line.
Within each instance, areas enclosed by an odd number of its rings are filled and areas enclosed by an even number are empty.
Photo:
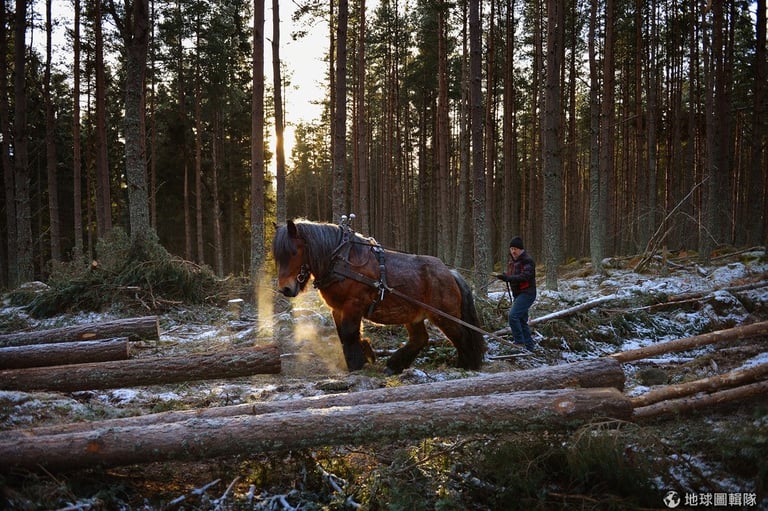
M495 373L435 383L404 385L354 392L351 394L328 394L287 401L246 403L215 408L194 410L173 410L135 417L122 417L98 422L77 422L32 429L4 431L2 436L29 437L58 435L76 431L105 429L128 426L180 422L188 419L212 419L235 415L261 415L266 413L289 412L312 408L358 407L360 405L391 403L397 401L418 401L423 399L457 398L485 394L503 394L525 390L548 390L565 387L614 387L624 388L624 372L621 364L610 358L599 358L572 364L541 367L525 371Z

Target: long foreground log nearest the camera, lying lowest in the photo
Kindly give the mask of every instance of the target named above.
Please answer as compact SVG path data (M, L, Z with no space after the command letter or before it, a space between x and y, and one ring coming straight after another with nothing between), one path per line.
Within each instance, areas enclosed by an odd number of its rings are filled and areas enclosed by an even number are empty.
M626 420L631 415L629 399L616 389L578 389L190 419L28 439L3 437L0 470L73 470L542 426L567 429L597 417Z

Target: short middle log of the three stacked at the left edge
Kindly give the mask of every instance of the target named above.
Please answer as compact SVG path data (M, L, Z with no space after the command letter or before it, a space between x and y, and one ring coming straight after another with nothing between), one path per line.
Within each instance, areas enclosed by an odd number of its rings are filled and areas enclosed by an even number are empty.
M127 337L97 341L33 344L0 348L0 369L85 364L125 360L127 358Z

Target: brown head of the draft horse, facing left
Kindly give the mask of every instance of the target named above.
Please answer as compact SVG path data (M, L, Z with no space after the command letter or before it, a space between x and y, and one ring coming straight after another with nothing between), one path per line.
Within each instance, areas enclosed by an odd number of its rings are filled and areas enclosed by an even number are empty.
M277 264L277 289L287 297L298 295L309 281L310 269L306 243L292 220L277 228L272 255Z

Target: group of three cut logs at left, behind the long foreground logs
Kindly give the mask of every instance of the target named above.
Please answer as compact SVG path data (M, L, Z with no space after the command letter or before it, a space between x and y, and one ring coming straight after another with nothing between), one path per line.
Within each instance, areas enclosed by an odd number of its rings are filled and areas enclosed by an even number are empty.
M129 359L160 338L156 316L0 335L0 390L108 389L280 372L277 346Z

